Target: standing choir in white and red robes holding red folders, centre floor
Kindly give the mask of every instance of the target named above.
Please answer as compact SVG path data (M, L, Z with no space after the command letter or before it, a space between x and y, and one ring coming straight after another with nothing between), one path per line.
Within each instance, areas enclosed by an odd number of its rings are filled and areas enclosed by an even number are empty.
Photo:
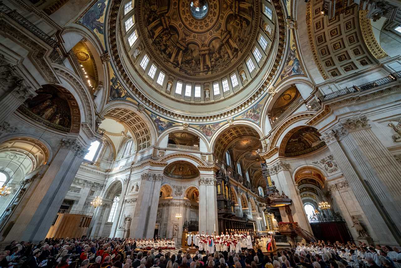
M187 244L188 246L193 245L196 246L200 252L209 251L209 253L213 254L214 252L223 252L223 251L234 251L234 252L242 252L245 249L251 249L252 246L252 237L247 232L235 232L234 234L229 234L226 232L224 234L221 232L221 235L209 235L209 233L196 232L195 235L188 235Z

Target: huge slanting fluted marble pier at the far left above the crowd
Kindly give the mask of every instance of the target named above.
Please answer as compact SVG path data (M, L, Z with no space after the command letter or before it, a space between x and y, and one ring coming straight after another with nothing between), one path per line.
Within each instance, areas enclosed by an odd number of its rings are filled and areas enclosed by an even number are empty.
M62 139L49 168L24 198L28 205L14 213L2 230L4 242L45 239L87 149L76 140ZM15 211L17 212L17 211Z

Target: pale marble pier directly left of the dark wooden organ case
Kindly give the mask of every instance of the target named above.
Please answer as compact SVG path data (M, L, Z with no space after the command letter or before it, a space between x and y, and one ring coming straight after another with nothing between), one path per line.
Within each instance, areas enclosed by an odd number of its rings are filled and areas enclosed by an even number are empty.
M199 232L219 233L216 178L199 178Z

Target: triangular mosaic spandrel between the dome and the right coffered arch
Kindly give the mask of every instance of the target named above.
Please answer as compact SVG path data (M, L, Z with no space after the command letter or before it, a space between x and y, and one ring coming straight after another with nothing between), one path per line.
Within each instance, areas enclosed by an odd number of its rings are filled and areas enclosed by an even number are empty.
M284 69L281 72L276 84L290 76L303 75L302 65L300 62L300 57L296 48L296 43L294 41L294 35L291 31L290 34L290 48L288 50L287 59L284 63Z

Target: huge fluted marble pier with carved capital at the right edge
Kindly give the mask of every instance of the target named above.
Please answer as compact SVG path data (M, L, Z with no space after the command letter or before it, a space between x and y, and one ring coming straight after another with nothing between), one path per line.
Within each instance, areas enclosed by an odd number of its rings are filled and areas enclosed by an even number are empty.
M401 243L400 166L375 136L367 118L348 119L321 139L367 215L369 235L383 244Z

